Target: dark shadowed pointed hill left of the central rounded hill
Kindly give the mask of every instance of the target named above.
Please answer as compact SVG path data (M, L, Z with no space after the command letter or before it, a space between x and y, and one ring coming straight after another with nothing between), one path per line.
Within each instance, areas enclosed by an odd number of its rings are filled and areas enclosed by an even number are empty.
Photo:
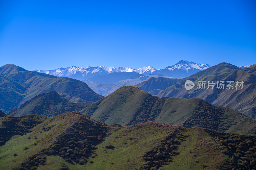
M20 107L12 109L8 115L18 117L34 114L52 117L71 111L80 111L88 105L88 103L72 103L67 99L61 98L57 92L52 90L33 97L20 105Z

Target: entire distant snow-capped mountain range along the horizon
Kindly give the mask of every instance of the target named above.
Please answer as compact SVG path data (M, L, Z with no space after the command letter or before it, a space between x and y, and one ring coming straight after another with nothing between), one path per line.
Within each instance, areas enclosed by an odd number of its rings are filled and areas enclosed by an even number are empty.
M250 65L240 66L240 68L246 68ZM85 68L79 67L67 67L67 68L58 68L55 70L35 70L40 73L51 74L59 77L69 77L75 78L78 80L86 80L87 78L92 78L98 75L105 75L114 72L136 72L142 75L156 74L164 75L173 78L188 77L198 71L205 70L211 67L209 64L198 64L193 62L188 62L187 60L181 60L178 63L168 66L164 69L156 69L152 66L143 67L139 69L132 69L130 67L90 67Z

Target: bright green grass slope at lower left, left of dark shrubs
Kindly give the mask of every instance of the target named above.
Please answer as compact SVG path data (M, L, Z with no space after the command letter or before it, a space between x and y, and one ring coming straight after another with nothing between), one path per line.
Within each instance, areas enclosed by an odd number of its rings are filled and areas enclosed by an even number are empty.
M26 115L23 117L29 116L31 115ZM3 118L2 120L5 119ZM54 118L46 118L43 123L32 128L32 132L27 133L26 135L13 136L11 140L5 143L5 145L0 146L1 169L14 169L15 167L20 166L24 160L27 160L29 157L35 154L39 154L42 149L49 148L52 144L58 143L62 139L61 136L67 136L69 129L73 126L76 127L77 124L83 120L85 120L87 123L99 124L85 115L67 113ZM88 126L88 124L84 124L84 126ZM45 131L43 129L44 127L51 127L51 129ZM35 139L35 137L37 137L37 139ZM35 143L37 145L35 145ZM25 147L28 147L29 149L24 150ZM14 153L17 153L17 156L14 157Z

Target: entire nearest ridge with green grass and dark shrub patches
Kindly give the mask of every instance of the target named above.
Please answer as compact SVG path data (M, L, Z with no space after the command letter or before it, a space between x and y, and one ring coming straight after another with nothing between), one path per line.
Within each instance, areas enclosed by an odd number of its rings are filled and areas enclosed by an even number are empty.
M147 122L107 126L78 112L0 118L5 169L255 169L256 137ZM186 158L186 159L184 159Z

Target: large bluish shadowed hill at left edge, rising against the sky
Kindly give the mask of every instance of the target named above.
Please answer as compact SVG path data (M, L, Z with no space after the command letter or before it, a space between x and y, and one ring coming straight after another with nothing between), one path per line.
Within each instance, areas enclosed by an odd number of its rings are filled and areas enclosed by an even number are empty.
M0 82L0 109L4 112L51 90L73 102L94 102L102 98L82 81L28 71L11 64L0 67Z

